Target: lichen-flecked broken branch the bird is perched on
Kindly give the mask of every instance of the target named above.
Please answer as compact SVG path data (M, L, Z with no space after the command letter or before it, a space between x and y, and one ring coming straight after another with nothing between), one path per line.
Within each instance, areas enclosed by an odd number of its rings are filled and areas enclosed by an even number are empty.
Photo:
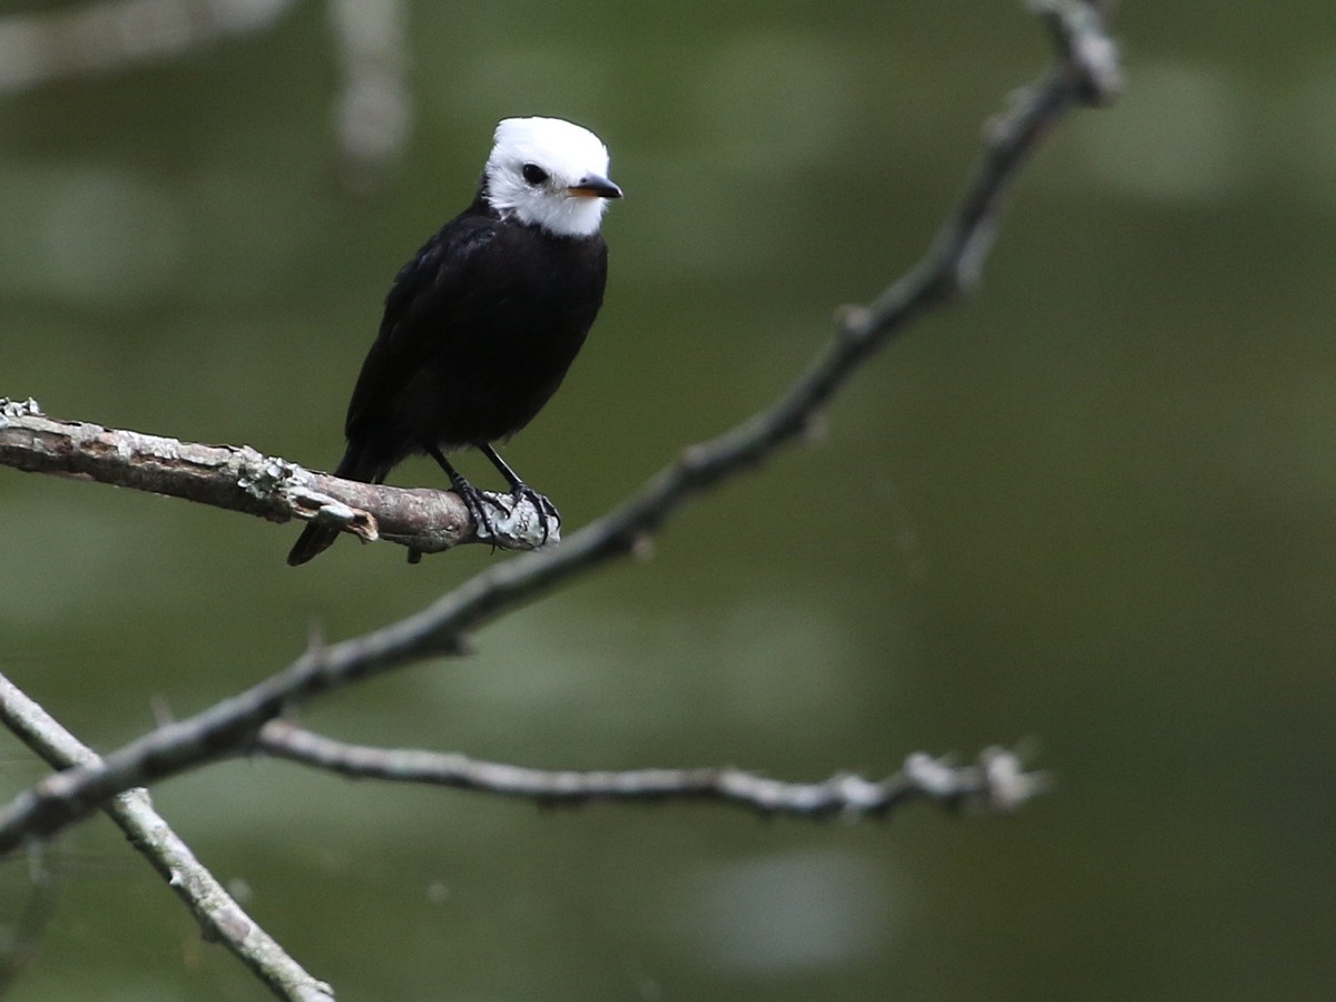
M496 537L480 540L468 506L450 492L341 480L248 445L198 445L61 421L43 414L33 399L0 398L0 465L183 497L277 522L327 521L363 541L387 540L411 553L464 542L501 549L544 544L542 516L526 498L488 492L505 514L494 521ZM556 526L546 538L560 540Z

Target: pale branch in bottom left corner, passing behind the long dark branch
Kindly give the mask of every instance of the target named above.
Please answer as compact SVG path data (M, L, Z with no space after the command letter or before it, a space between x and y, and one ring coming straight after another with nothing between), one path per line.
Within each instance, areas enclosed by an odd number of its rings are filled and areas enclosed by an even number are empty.
M56 768L96 768L98 754L79 741L17 685L0 675L0 720ZM186 902L204 938L220 942L279 998L318 1002L334 990L307 974L297 961L250 918L223 886L195 859L190 847L154 811L148 791L127 790L102 808L126 832L130 843L152 864L176 896Z

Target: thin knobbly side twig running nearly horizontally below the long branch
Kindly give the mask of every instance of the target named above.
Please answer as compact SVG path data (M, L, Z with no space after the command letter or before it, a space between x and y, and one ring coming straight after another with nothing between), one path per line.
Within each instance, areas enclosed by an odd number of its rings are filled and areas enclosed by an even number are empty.
M1014 811L1047 790L1042 772L1026 772L1015 752L985 748L971 766L953 766L922 752L882 780L839 774L822 783L786 783L736 768L631 770L576 772L534 770L478 762L413 748L369 748L271 720L254 749L351 779L474 790L534 800L545 807L589 800L720 800L762 814L804 818L884 818L912 800L946 807L978 804L994 812Z

